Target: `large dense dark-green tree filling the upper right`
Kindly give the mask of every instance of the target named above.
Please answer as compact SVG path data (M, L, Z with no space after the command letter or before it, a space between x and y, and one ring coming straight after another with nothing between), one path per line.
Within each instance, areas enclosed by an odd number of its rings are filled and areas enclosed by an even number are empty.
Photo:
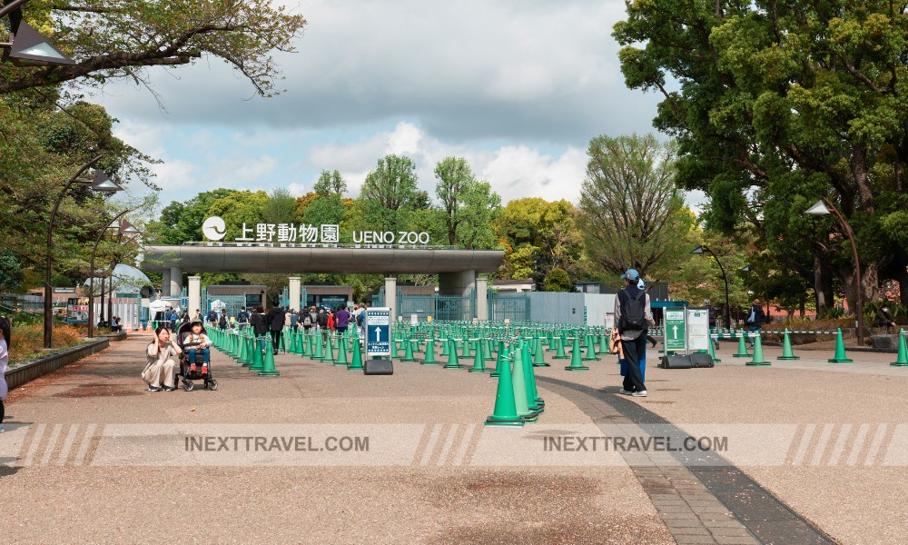
M800 233L781 231L794 220L766 224L765 212L823 196L852 223L861 286L834 220L802 232L824 232L804 245L817 271L804 280L822 310L832 275L852 303L858 290L876 295L890 264L908 282L908 255L881 228L904 205L906 33L904 5L836 0L634 2L614 35L627 85L664 96L654 124L676 140L679 183L710 195L707 224L749 224L772 246Z

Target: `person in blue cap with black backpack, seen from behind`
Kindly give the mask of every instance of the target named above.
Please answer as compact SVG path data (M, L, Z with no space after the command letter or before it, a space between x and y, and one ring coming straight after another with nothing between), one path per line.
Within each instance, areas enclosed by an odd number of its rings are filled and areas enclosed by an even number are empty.
M635 397L646 397L646 384L643 373L635 362L640 361L640 356L646 350L646 333L649 327L655 326L653 311L649 306L649 294L639 287L640 273L635 269L628 269L621 275L625 281L623 290L617 292L615 297L615 324L621 338L621 349L627 360L627 372L620 393ZM641 312L635 311L637 307Z

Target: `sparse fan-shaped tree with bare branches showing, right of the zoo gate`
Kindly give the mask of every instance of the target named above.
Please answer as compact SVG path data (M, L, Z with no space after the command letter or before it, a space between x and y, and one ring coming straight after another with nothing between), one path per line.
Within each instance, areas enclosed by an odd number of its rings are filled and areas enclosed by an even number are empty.
M690 251L694 216L675 185L672 146L652 134L597 136L587 149L580 224L591 261L621 274L665 269Z

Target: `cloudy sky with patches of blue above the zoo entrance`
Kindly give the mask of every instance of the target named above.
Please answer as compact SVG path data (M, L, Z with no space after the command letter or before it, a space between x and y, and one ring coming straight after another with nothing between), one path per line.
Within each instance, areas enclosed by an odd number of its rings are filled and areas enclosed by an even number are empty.
M216 59L111 84L93 100L154 165L161 200L215 187L311 191L341 171L359 194L385 154L466 157L504 202L577 202L589 139L651 132L658 97L629 91L612 25L621 0L289 0L308 25L271 99ZM139 192L133 184L133 192Z

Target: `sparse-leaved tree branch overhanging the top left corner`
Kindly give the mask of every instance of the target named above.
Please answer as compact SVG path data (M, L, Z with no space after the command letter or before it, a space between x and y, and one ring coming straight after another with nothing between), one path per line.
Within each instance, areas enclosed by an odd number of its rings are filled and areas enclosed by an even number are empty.
M103 85L129 78L152 87L151 66L220 59L248 79L258 94L275 93L280 71L271 53L292 51L305 20L269 0L131 0L31 2L23 13L76 64L16 68L4 64L0 94L44 85Z

